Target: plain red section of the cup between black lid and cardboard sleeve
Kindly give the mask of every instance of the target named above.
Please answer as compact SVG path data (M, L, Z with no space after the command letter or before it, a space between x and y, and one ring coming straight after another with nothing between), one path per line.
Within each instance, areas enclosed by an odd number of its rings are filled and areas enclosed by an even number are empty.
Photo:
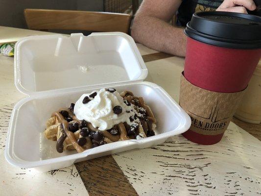
M229 49L188 38L184 76L200 88L235 93L247 87L261 49Z

